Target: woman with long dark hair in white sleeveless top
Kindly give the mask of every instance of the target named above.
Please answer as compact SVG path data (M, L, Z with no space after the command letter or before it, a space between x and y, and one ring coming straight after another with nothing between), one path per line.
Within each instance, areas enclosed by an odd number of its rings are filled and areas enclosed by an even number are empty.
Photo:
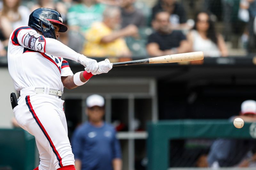
M208 12L196 15L195 26L187 35L190 51L203 51L205 56L228 56L228 49L220 34L215 32L214 22Z

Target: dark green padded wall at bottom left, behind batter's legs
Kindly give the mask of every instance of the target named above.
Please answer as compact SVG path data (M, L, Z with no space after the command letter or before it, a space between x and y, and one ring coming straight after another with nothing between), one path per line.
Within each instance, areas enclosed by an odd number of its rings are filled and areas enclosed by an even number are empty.
M0 168L33 170L35 137L23 129L0 129Z

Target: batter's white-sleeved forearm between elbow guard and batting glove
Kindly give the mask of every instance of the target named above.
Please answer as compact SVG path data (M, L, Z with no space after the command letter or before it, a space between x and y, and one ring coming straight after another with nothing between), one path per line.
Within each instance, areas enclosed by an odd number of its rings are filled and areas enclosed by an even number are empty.
M62 44L60 41L53 38L45 38L45 53L53 56L60 56L77 62L80 55L73 49Z

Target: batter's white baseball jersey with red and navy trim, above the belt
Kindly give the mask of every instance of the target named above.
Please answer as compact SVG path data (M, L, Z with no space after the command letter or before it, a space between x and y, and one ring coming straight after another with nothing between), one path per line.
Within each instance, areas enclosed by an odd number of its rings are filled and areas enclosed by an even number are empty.
M68 62L45 54L44 36L29 26L15 29L8 44L8 69L15 89L50 86L63 91L61 76L73 75Z

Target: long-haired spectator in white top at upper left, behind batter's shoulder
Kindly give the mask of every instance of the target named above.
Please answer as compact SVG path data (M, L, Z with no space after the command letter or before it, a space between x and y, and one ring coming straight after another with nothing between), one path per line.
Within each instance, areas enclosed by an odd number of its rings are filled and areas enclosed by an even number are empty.
M8 45L8 39L12 31L18 26L27 26L30 11L27 7L20 5L21 0L3 0L3 8L0 14L0 29L3 31L5 41L4 46Z

